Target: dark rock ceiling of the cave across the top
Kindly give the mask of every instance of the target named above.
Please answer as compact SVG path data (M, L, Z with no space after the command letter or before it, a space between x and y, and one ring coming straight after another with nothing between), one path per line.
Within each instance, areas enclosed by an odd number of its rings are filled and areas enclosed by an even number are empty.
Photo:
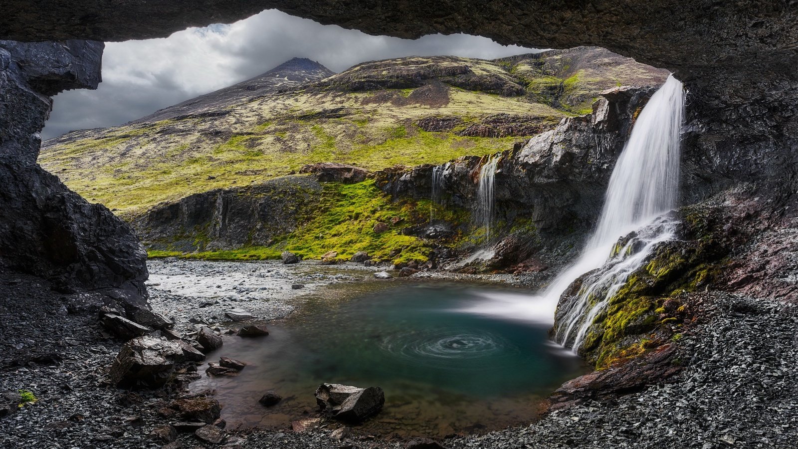
M602 46L667 68L684 81L717 71L729 74L741 66L786 74L795 64L791 59L798 42L796 0L61 0L47 7L8 0L0 17L0 38L156 38L188 26L235 22L271 8L401 38L467 33L541 48Z

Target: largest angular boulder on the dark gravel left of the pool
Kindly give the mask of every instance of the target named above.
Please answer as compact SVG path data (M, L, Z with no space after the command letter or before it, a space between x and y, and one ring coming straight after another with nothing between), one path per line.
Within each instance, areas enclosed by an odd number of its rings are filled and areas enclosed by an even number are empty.
M109 370L117 387L161 387L172 376L183 350L163 337L140 336L124 344Z

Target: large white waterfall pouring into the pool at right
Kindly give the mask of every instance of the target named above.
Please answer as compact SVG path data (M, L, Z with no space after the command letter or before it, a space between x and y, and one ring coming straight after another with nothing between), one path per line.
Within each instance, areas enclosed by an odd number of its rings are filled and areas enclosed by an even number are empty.
M661 216L676 206L683 110L681 82L668 77L643 108L618 157L599 224L579 260L561 272L537 300L493 297L465 310L551 323L568 286L596 270L584 280L555 337L559 343L570 343L571 348L578 349L595 316L606 308L630 273L659 243L674 238L675 223ZM634 231L636 235L622 248L615 248L620 237Z

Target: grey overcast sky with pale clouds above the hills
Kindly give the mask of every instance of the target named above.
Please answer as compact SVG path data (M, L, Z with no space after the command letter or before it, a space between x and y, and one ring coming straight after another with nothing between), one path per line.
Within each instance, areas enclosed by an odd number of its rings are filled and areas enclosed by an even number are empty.
M169 38L109 42L97 90L55 97L44 139L74 129L121 125L157 109L235 84L290 58L310 58L340 72L358 62L401 56L502 58L537 51L455 34L408 39L323 26L277 10L232 25L189 28Z

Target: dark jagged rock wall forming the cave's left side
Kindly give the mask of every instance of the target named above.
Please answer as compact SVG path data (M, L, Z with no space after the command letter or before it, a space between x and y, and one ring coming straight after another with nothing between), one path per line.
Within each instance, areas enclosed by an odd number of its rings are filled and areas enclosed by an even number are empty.
M66 292L93 290L146 307L145 252L131 228L36 164L49 96L93 89L101 42L0 41L0 264Z

